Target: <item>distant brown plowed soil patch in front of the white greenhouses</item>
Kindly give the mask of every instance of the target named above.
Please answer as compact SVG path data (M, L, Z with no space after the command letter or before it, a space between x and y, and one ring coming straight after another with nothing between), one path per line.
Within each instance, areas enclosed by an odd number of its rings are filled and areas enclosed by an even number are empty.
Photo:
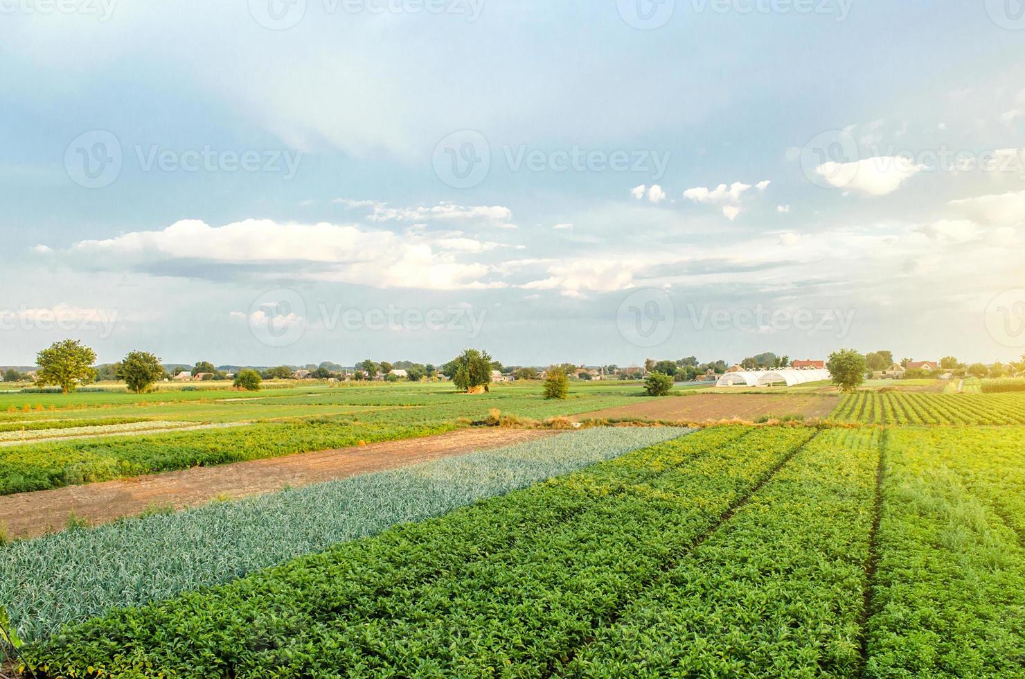
M662 420L668 422L702 423L716 420L752 421L762 415L782 417L801 414L824 417L839 403L838 396L818 394L695 394L669 396L632 405L582 412L573 415L584 420Z

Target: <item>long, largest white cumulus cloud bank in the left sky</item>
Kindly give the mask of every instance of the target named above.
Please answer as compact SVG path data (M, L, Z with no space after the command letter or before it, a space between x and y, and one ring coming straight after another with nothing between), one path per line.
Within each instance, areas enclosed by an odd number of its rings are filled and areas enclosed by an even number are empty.
M502 287L490 268L461 255L498 247L458 232L429 235L355 225L246 219L211 227L182 219L160 231L84 240L63 252L72 266L189 278L225 276L434 290Z

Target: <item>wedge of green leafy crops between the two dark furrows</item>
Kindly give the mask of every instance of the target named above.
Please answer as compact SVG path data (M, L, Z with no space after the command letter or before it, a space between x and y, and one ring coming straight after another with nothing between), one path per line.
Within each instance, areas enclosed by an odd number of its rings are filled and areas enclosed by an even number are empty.
M821 434L560 674L858 676L878 439Z

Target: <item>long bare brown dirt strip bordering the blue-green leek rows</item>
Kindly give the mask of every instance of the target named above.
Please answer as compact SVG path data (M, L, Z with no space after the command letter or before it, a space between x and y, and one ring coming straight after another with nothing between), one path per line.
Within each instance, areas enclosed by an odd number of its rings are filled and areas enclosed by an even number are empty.
M107 523L154 509L184 509L217 498L237 498L302 486L440 457L486 450L558 434L545 430L462 429L439 436L382 441L365 446L321 450L270 460L194 467L151 474L0 495L0 529L11 537L35 537L63 530L74 516L89 524Z

